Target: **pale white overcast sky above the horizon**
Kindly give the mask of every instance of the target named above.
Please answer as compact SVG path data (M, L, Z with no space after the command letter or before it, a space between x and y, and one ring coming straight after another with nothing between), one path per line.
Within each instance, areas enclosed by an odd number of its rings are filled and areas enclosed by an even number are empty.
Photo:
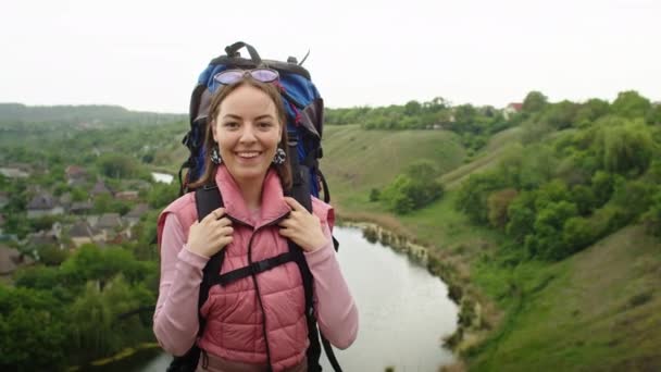
M661 1L4 0L0 102L188 111L209 61L241 40L299 59L326 107L661 101ZM244 53L247 55L247 53Z

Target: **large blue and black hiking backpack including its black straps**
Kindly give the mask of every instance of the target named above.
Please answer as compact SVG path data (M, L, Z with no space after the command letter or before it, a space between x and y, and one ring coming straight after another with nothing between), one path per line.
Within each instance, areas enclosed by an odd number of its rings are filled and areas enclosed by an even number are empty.
M250 59L244 59L238 50L246 48ZM296 58L289 57L287 62L262 60L257 50L242 41L235 42L225 48L225 55L213 59L209 66L200 74L198 85L192 90L190 99L190 131L183 139L183 144L188 148L189 158L182 164L178 172L179 195L191 191L190 183L199 179L204 173L204 133L209 123L209 106L213 92L219 88L213 76L228 69L254 69L257 66L267 66L276 70L279 74L279 82L283 87L283 103L287 111L287 135L289 146L289 157L287 160L291 165L292 188L289 196L294 197L308 211L312 211L311 196L319 197L323 189L324 201L330 200L327 183L319 170L319 159L323 156L321 138L323 134L323 100L310 79L310 73L297 63ZM183 171L187 169L186 175L182 178ZM222 196L215 185L205 185L195 190L196 208L198 220L201 221L211 211L223 206ZM333 238L335 249L338 244ZM209 296L209 289L213 285L225 285L235 280L249 275L257 275L260 272L271 270L278 264L295 261L301 272L305 295L305 318L308 323L308 338L310 347L307 350L308 371L321 371L319 363L321 356L321 345L324 347L326 357L335 371L341 371L335 358L333 347L327 339L317 331L316 319L313 309L313 277L308 263L302 253L302 249L294 241L289 240L289 251L280 256L253 262L251 265L234 270L229 273L219 275L222 268L225 250L214 255L203 270L202 283L200 285L200 297L198 309L204 303ZM199 315L199 314L198 314ZM204 328L204 319L200 318L201 335ZM175 357L169 372L195 371L200 358L200 349L197 344L182 357Z

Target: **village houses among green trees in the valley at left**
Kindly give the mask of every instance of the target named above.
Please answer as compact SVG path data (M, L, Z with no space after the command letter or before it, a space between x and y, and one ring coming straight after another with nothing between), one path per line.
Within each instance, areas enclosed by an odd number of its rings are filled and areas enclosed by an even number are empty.
M0 166L0 175L10 182L28 179L35 172L35 166L25 163ZM0 280L8 280L22 266L35 264L39 247L73 252L86 244L103 248L135 239L134 227L150 211L140 195L141 191L145 195L152 184L145 179L122 179L122 187L113 189L100 176L74 164L66 166L62 177L71 189L84 189L85 197L75 198L72 193L55 196L52 189L40 185L27 186L26 194L32 197L26 200L26 218L53 222L49 228L30 232L24 237L5 228L10 215L1 212L11 202L12 195L0 190ZM124 214L99 213L95 203L98 206L100 200L120 202L128 211Z

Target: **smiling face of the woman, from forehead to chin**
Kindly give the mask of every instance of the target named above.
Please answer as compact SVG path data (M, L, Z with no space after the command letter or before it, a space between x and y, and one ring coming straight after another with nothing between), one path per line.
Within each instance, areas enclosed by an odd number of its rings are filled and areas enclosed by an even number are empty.
M221 102L213 139L239 185L263 181L283 134L277 117L273 100L249 85L236 88Z

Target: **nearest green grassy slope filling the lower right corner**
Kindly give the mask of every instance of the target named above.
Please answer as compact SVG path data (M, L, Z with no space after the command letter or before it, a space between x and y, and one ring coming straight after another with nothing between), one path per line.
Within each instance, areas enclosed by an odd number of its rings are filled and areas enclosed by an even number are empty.
M661 243L629 226L552 265L475 270L512 314L476 360L478 371L658 371ZM525 287L508 296L508 278ZM520 298L517 298L520 296Z

